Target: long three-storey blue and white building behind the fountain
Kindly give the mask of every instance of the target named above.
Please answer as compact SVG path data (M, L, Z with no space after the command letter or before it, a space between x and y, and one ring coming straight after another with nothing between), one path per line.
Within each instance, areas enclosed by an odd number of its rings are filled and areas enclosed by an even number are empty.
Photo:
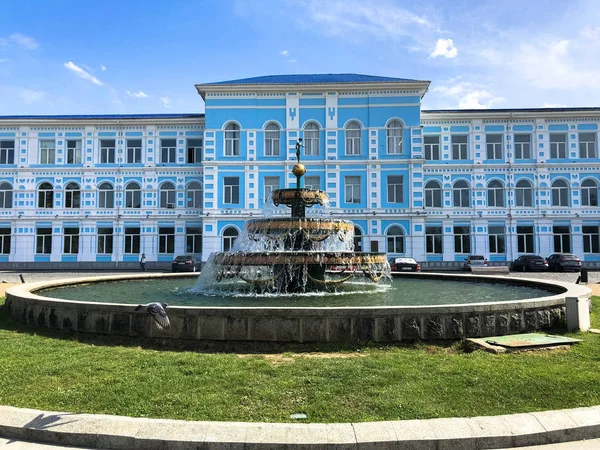
M0 262L206 260L295 186L302 138L363 251L600 265L600 108L423 111L428 87L265 76L197 85L205 114L0 117Z

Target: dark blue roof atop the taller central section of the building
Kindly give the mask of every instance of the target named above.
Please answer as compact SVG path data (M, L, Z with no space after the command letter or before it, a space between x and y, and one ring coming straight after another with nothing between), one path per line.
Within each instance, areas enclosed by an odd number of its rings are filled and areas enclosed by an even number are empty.
M296 75L266 75L262 77L242 78L240 80L202 83L203 85L243 85L243 84L340 84L340 83L414 83L421 80L408 78L379 77L359 73L322 73Z

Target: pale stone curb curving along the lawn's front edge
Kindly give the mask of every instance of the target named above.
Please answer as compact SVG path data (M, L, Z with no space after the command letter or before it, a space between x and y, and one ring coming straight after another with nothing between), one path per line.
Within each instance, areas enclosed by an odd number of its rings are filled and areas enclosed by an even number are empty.
M123 450L478 450L600 437L600 406L535 413L298 424L187 422L0 406L0 436Z

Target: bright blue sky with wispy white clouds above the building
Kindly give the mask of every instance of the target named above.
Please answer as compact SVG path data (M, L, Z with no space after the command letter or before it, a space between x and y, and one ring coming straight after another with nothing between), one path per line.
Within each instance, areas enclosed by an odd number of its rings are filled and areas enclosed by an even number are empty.
M195 83L431 80L425 109L600 106L597 0L3 0L0 114L203 112Z

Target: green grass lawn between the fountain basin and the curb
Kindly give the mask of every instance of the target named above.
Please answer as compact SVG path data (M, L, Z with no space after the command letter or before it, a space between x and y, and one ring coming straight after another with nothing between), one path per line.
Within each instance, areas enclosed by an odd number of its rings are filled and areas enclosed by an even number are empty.
M592 324L600 328L600 297ZM432 346L189 349L25 326L0 307L0 404L186 420L350 422L600 404L600 335L494 355ZM154 345L154 346L153 346ZM261 352L262 351L262 352Z

